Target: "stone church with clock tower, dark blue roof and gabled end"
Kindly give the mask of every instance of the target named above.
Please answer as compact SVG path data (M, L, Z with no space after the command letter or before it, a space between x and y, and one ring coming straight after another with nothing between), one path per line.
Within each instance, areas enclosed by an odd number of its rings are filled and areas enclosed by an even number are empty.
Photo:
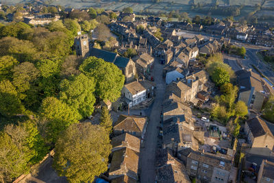
M136 66L131 58L121 57L117 53L105 51L103 49L96 49L93 47L89 49L88 36L86 34L79 35L75 38L75 49L77 56L82 56L84 58L95 56L96 58L102 58L105 62L112 62L123 71L126 83L134 81Z

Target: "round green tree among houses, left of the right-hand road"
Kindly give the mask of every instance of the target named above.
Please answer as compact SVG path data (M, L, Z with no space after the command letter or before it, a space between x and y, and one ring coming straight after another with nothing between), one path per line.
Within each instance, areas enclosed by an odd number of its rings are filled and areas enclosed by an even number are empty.
M217 86L222 86L223 84L230 82L229 73L222 67L217 67L212 75L212 80Z

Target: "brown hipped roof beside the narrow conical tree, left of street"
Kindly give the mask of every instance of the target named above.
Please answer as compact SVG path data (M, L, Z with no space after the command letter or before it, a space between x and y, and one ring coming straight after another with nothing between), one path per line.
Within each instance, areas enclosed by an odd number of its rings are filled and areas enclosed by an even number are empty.
M142 130L144 130L146 121L147 117L127 116L121 114L118 121L114 123L114 129L131 132L142 132Z

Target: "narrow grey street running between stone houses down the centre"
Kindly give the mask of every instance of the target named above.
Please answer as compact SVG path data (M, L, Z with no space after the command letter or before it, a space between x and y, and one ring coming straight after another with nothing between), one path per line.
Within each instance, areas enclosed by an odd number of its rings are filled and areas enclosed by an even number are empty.
M154 62L154 80L156 84L156 96L147 125L145 134L145 145L140 149L140 182L155 182L155 151L158 140L158 128L160 125L160 113L162 111L162 102L164 100L165 83L162 77L163 65L158 59Z

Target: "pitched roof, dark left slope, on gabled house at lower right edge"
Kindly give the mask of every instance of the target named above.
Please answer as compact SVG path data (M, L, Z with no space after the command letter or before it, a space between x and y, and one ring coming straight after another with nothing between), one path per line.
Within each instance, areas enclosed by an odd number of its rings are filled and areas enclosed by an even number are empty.
M269 130L269 127L259 117L249 119L247 121L247 125L249 126L249 129L250 129L254 138L258 137L258 136L263 136L265 134L269 134L270 136L272 136L274 138L272 132Z

